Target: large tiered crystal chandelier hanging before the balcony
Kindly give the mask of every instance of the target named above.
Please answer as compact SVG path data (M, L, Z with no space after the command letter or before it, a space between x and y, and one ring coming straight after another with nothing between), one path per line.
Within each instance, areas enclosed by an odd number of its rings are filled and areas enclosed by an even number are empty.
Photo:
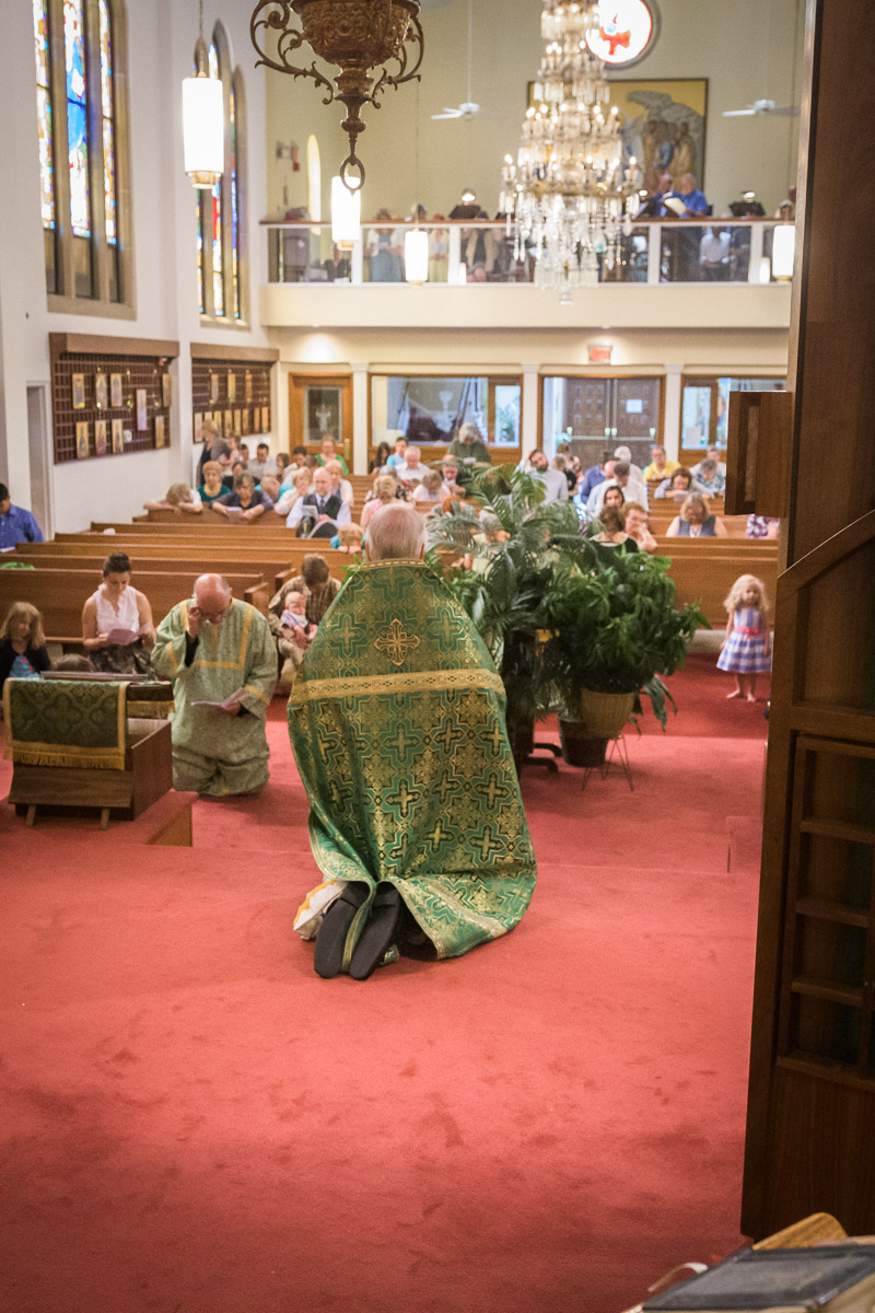
M535 284L565 297L598 281L600 256L614 268L638 179L635 159L623 164L622 119L610 106L603 64L586 43L598 24L597 0L544 0L533 104L517 160L505 155L502 169L501 210L516 259L531 249Z

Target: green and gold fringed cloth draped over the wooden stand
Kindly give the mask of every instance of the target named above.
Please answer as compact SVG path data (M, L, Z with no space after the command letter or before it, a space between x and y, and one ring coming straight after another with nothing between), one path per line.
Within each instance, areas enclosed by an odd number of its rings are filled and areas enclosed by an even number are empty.
M21 765L123 771L127 683L8 679L7 756Z

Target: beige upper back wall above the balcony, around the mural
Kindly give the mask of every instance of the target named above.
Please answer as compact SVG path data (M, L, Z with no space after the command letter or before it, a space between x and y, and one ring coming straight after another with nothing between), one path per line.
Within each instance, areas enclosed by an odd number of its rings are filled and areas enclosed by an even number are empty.
M771 213L795 180L798 118L722 117L722 110L741 108L766 91L779 105L799 102L804 4L771 0L769 50L767 8L766 0L660 0L661 32L653 53L623 75L708 79L704 189L715 213L722 213L745 188L756 189ZM495 213L501 160L506 152L516 152L526 83L534 77L543 49L540 3L474 0L471 96L491 114L470 122L433 122L433 113L467 98L467 0L426 9L421 85L390 91L379 110L365 109L365 215L373 215L380 205L404 215L417 198L429 214L446 214L464 185L475 186L481 204ZM303 159L307 134L316 133L327 179L346 151L338 126L341 106L323 106L312 84L273 72L266 74L266 81L269 215L275 218L283 183L287 194L306 196L299 192L303 168L293 179L290 165L274 158L277 140L294 138Z

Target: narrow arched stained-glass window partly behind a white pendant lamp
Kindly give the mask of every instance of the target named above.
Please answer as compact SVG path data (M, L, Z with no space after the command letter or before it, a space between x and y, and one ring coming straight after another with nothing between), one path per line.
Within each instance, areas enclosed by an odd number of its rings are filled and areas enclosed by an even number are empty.
M197 53L195 53L197 67ZM207 50L207 72L222 83L224 173L197 200L198 303L201 318L243 324L245 306L245 102L240 70L231 72L231 49L218 22Z

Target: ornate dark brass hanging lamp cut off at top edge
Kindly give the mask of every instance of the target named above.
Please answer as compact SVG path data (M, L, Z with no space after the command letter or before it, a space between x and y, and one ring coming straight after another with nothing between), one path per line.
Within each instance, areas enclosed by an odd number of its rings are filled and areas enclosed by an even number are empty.
M252 13L249 34L260 55L256 67L312 77L325 92L324 105L333 100L345 105L341 126L349 138L349 155L340 165L340 177L350 192L361 190L365 183L365 165L356 154L358 135L365 131L362 106L378 109L386 87L418 79L425 49L418 12L420 0L261 0ZM333 83L315 62L308 68L293 63L304 42L327 64L340 68ZM384 66L392 62L397 71L390 74Z

